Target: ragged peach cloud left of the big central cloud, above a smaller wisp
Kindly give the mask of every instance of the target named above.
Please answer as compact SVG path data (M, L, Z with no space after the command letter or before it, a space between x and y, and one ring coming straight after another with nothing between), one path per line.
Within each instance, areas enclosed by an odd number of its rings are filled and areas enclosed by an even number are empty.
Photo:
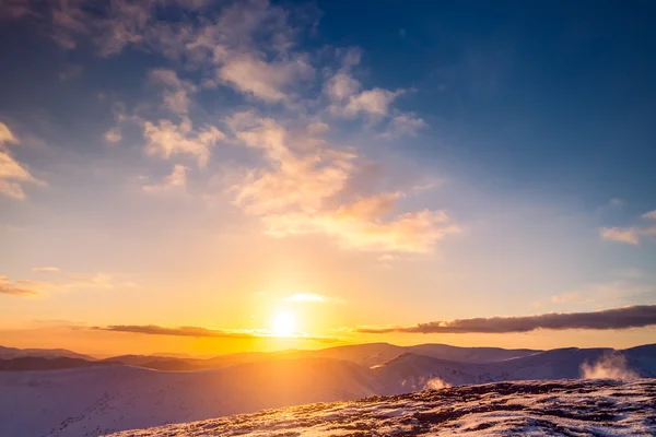
M204 166L212 146L225 139L225 134L213 126L195 130L191 120L184 118L178 125L171 120L157 123L143 122L145 153L169 158L174 155L190 155L199 166Z

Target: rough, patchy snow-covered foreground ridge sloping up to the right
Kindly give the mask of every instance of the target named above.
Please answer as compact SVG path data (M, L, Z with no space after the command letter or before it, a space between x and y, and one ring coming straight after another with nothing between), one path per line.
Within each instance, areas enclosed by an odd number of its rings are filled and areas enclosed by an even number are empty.
M656 380L496 382L127 430L154 436L656 436Z

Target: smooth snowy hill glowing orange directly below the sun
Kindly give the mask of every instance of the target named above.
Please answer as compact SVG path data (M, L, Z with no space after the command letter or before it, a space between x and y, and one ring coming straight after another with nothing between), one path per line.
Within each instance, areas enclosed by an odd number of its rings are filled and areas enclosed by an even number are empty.
M175 373L124 365L4 371L0 436L98 436L382 391L372 370L330 358Z

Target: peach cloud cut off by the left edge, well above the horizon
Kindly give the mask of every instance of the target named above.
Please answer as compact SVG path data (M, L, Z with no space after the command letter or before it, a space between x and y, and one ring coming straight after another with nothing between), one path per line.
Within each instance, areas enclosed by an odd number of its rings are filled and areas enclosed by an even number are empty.
M45 185L45 182L32 176L23 164L11 155L4 146L8 143L19 143L19 140L7 125L0 122L0 194L23 200L25 192L22 184Z

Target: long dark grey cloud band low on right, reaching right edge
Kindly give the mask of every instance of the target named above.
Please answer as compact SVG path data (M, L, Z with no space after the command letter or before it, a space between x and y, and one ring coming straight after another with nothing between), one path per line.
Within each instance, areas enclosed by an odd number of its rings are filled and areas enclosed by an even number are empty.
M644 328L656 324L656 305L606 309L595 312L544 314L526 317L456 319L419 323L412 327L361 327L360 333L511 333L538 329L610 330Z

